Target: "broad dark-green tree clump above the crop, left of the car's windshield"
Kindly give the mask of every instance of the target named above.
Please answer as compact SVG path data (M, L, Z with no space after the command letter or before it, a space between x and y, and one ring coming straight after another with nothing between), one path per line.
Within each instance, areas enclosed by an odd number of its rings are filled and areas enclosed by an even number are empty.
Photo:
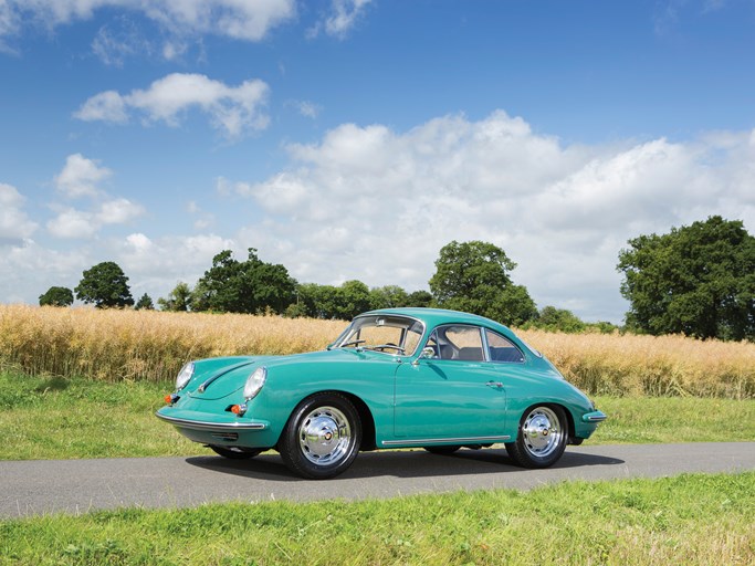
M233 259L223 250L212 259L212 268L197 283L195 310L228 313L283 313L294 301L295 281L280 264L265 263L249 249L247 261Z

